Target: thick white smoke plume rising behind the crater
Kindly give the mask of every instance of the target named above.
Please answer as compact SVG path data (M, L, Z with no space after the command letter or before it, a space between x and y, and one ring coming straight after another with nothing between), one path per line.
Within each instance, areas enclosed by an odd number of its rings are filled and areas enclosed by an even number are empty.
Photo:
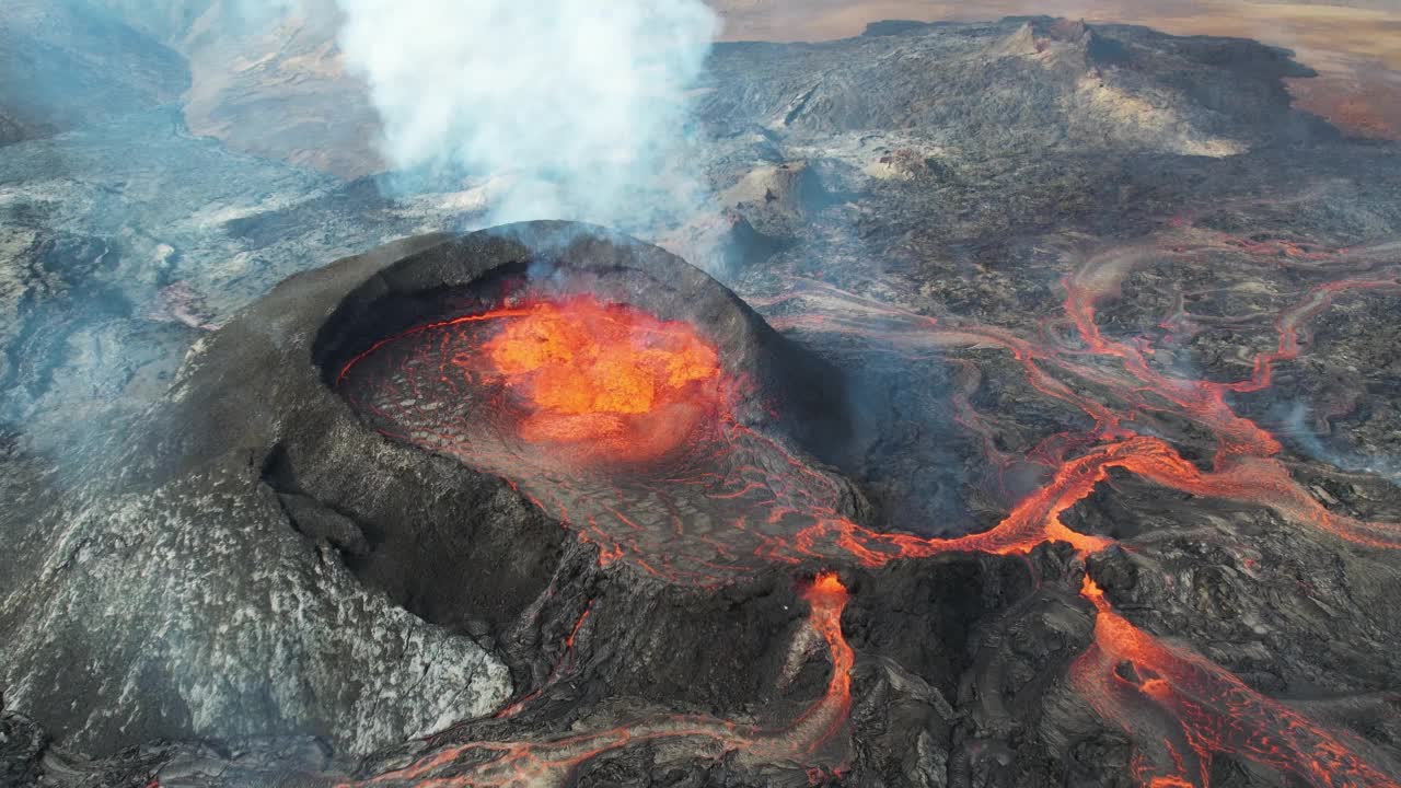
M702 0L338 0L388 164L495 175L492 219L639 226L684 208Z

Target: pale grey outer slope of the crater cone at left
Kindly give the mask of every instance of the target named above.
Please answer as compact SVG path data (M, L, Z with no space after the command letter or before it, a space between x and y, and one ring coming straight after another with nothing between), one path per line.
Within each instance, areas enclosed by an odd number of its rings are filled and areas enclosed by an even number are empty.
M198 342L136 440L27 523L34 559L7 571L3 604L8 704L83 750L303 732L368 752L506 700L500 660L366 590L326 541L293 530L262 480L289 432L338 429L298 421L307 386L321 390L310 345L324 310L307 300L332 306L338 280L394 251L284 289L300 321L275 294Z

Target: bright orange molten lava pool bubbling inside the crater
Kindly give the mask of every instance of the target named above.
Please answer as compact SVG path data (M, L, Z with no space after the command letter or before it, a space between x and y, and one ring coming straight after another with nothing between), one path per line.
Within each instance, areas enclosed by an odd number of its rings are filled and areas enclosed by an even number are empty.
M626 460L677 447L713 408L720 374L689 324L593 296L531 304L483 351L531 405L521 437Z

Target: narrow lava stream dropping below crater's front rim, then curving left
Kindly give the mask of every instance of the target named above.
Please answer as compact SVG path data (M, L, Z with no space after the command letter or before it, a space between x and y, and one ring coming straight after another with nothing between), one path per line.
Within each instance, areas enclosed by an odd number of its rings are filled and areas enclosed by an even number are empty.
M839 768L845 763L846 745L834 743L834 753L824 749L845 725L852 705L855 653L842 635L848 593L835 573L822 573L804 587L803 599L808 603L807 625L827 642L832 676L822 697L783 728L766 731L710 716L671 715L556 739L471 742L447 747L405 768L367 781L342 782L336 788L402 784L417 788L545 788L566 784L588 760L643 742L686 745L688 759L696 752L712 757L733 752L740 761L754 764L792 761ZM440 774L443 771L450 774Z

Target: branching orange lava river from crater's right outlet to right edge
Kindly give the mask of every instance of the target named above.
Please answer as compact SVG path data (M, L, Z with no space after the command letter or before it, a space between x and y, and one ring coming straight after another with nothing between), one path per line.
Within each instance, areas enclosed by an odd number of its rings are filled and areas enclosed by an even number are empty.
M1276 321L1278 349L1258 356L1251 379L1241 383L1209 383L1171 377L1152 369L1142 351L1131 344L1105 339L1094 324L1094 304L1110 290L1111 280L1103 275L1068 278L1065 286L1069 294L1065 308L1073 317L1082 341L1090 352L1119 359L1125 372L1133 377L1132 381L1111 377L1094 367L1066 359L1055 348L1038 349L996 330L944 328L933 318L915 315L860 296L850 296L828 285L814 285L815 299L829 304L828 308L855 311L867 318L878 315L884 325L876 331L860 324L829 320L810 322L800 317L789 321L790 327L801 325L817 331L845 331L863 335L869 331L869 335L874 338L902 341L915 346L923 341L932 349L969 344L1000 345L1021 362L1033 387L1058 400L1079 405L1094 418L1097 432L1101 436L1118 437L1119 440L1101 444L1082 457L1061 463L1049 482L1027 496L1007 517L988 531L953 540L925 540L905 534L876 533L852 523L822 520L811 526L806 538L800 540L800 551L820 552L821 540L835 533L843 545L867 565L878 565L891 558L916 558L948 551L1024 552L1042 541L1068 541L1082 552L1093 552L1107 544L1107 540L1076 534L1061 524L1056 515L1089 495L1094 484L1103 481L1105 471L1111 467L1132 471L1182 492L1267 506L1288 520L1313 526L1367 547L1401 548L1401 527L1337 515L1318 503L1293 481L1282 463L1272 458L1279 451L1279 443L1275 437L1252 421L1236 415L1226 402L1227 391L1264 388L1269 384L1276 362L1297 358L1300 324L1331 304L1338 293L1355 289L1401 292L1401 285L1395 279L1342 279L1310 290L1299 304L1286 310ZM1084 282L1091 282L1093 287L1083 287ZM901 327L906 331L901 332L892 327ZM1129 421L1126 415L1069 394L1063 384L1045 377L1040 363L1054 365L1062 372L1103 384L1140 408L1171 405L1177 415L1202 425L1217 436L1216 467L1212 471L1201 471L1184 460L1167 442L1135 435L1124 426ZM1142 395L1145 391L1159 395L1160 402L1156 405L1146 402Z

